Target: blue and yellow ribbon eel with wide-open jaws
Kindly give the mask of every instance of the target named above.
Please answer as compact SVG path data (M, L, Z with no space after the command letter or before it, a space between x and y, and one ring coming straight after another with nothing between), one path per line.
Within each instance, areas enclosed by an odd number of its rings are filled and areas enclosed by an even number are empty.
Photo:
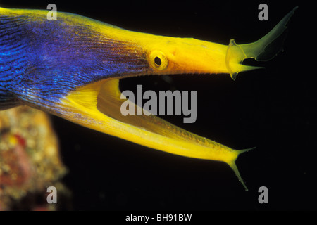
M120 113L119 79L140 75L220 74L235 79L245 58L269 60L270 44L290 13L251 44L132 32L72 13L47 20L44 10L0 8L0 108L30 105L82 126L149 148L228 163L247 190L234 150L154 115ZM268 49L270 51L268 51ZM135 106L139 107L139 106Z

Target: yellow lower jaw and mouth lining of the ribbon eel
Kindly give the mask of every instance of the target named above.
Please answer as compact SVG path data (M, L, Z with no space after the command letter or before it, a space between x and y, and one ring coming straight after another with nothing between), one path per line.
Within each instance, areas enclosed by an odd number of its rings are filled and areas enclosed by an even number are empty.
M175 155L228 163L244 185L235 160L250 149L234 150L192 134L154 115L122 115L119 79L104 79L68 94L63 105L70 109L66 119L85 127L120 137L142 146ZM129 101L129 100L128 100ZM133 103L135 110L142 110ZM70 114L73 112L73 115ZM76 114L77 113L77 114ZM244 185L247 190L247 187Z

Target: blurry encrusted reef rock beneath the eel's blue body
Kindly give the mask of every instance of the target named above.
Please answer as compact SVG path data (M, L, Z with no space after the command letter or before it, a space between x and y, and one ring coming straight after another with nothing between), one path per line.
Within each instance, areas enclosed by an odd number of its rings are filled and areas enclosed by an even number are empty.
M70 193L58 139L46 113L28 107L0 111L0 210L61 210ZM47 203L49 186L58 204Z

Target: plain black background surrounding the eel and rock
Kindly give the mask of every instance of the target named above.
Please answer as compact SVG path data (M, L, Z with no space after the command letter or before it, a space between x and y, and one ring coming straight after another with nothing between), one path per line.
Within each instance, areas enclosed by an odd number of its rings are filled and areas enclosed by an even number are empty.
M197 91L197 121L164 117L235 149L249 191L223 162L152 150L58 117L64 184L73 210L317 210L316 23L304 1L1 1L8 8L46 8L85 15L128 30L237 44L263 37L299 6L288 24L284 51L264 70L229 75L175 75L122 79L120 88ZM268 21L258 6L268 4ZM312 8L310 11L309 8ZM268 204L258 189L268 188Z

